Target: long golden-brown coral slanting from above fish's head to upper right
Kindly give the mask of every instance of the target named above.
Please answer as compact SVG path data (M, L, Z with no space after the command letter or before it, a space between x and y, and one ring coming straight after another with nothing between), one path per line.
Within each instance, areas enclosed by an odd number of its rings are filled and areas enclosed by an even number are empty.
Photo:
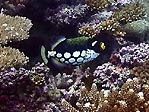
M94 37L100 31L108 30L114 32L115 35L124 36L126 32L123 29L123 25L139 20L144 17L145 14L145 8L143 4L132 2L125 5L121 9L114 11L111 17L105 21L96 23L94 25L82 26L79 28L79 33Z

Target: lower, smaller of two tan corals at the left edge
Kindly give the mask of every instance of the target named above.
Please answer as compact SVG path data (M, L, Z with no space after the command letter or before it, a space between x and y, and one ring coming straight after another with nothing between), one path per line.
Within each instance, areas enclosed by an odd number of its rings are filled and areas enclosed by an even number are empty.
M0 57L0 70L13 66L21 66L28 62L28 57L26 57L24 53L11 47L1 47Z

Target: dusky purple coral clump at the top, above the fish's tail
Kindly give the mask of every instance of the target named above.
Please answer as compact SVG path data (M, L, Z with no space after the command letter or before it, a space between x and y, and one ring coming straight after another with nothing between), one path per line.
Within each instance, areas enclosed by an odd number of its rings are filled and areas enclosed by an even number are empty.
M56 10L55 14L47 16L47 20L57 25L75 24L77 20L82 18L87 12L87 5L61 5ZM47 13L51 13L50 10L47 11Z

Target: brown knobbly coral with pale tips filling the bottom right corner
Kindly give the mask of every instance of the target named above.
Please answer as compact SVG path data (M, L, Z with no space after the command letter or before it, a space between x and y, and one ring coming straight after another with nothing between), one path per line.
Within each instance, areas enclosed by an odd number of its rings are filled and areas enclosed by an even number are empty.
M88 91L83 86L76 107L65 99L62 99L62 106L67 112L147 112L149 85L141 85L139 79L134 78L128 79L120 91L113 89L111 92L99 92L96 84Z

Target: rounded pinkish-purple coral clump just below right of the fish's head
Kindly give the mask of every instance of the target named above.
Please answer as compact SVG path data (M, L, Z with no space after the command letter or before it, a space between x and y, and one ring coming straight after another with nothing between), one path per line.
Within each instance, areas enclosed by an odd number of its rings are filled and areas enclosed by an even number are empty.
M103 89L120 88L128 78L133 77L129 69L117 67L111 63L98 66L93 73L94 83Z

